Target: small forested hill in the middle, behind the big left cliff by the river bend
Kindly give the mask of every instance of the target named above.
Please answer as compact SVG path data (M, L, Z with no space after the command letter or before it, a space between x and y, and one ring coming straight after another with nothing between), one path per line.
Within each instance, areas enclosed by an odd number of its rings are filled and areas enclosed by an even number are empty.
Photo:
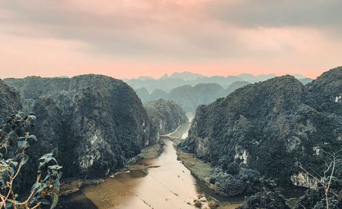
M145 108L153 124L159 128L159 134L165 135L176 130L178 126L187 122L185 111L179 104L170 100L159 99L145 104Z

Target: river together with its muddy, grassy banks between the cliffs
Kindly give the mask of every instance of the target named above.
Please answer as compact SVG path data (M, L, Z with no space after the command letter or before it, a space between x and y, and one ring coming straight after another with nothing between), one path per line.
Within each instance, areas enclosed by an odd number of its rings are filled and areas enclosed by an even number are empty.
M191 120L190 120L191 121ZM83 186L64 196L59 208L236 208L241 197L216 195L208 179L212 167L192 154L176 150L187 137L190 123L161 136L160 143L142 151L128 166L129 172L107 178L100 184ZM160 156L159 156L160 155ZM205 183L207 182L207 183Z

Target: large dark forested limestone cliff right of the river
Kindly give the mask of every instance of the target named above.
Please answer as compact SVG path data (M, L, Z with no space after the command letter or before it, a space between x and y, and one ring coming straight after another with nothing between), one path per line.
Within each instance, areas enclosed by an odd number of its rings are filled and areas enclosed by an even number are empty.
M214 165L235 161L289 183L299 173L296 163L317 167L317 149L342 146L337 115L342 106L335 102L341 94L341 74L341 68L330 70L307 87L293 76L281 76L202 105L181 148ZM335 114L327 111L332 102Z

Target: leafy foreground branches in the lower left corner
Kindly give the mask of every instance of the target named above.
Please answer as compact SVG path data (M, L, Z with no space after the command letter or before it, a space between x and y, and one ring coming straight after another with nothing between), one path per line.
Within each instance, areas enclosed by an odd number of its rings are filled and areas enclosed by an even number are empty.
M19 197L14 191L14 183L29 159L25 152L31 142L37 141L37 137L29 135L28 131L35 120L34 113L18 111L3 120L4 124L0 126L0 208L34 209L43 205L55 208L57 205L62 176L62 167L54 157L57 149L39 158L36 182L27 196Z

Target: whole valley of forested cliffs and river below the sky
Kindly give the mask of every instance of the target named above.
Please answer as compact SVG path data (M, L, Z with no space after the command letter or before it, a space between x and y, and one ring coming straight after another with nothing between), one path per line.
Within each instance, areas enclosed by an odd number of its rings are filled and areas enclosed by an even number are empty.
M277 76L222 97L220 85L202 83L176 87L170 95L179 99L144 104L109 76L4 81L1 117L21 110L4 122L30 110L36 113L25 118L37 119L16 133L37 139L24 148L16 188L27 192L40 156L54 150L64 173L56 184L60 208L312 208L324 182L304 168L319 172L342 147L341 67L306 85ZM3 128L5 135L10 126ZM12 146L5 156L26 145L2 143ZM331 175L332 191L341 193L339 160Z

